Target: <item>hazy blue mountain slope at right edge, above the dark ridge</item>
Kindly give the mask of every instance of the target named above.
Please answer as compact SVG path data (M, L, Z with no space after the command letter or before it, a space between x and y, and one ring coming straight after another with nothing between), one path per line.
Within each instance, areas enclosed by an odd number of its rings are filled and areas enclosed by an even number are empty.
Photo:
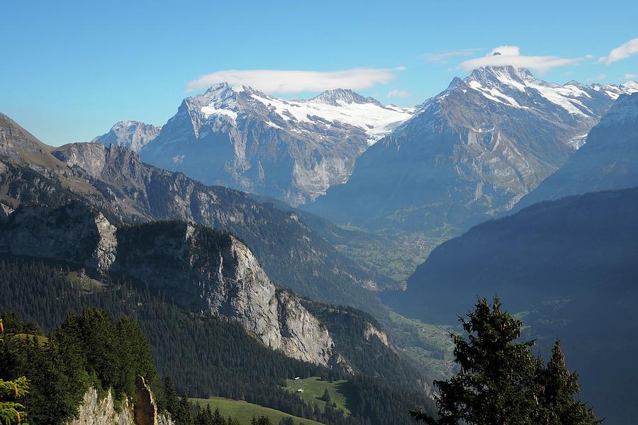
M586 143L516 205L638 186L638 93L618 98Z

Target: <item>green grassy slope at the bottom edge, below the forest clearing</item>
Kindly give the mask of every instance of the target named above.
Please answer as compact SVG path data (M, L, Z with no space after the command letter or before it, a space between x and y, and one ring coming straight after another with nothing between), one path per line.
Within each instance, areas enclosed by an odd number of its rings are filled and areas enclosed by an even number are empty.
M282 418L291 416L296 424L321 425L319 422L310 421L310 419L299 418L279 410L269 409L268 407L262 407L258 404L243 402L241 400L211 397L209 399L191 399L191 402L198 403L202 407L206 407L206 404L210 404L211 410L219 409L222 416L233 416L233 419L237 419L242 425L249 425L252 416L268 416L273 424L279 424Z

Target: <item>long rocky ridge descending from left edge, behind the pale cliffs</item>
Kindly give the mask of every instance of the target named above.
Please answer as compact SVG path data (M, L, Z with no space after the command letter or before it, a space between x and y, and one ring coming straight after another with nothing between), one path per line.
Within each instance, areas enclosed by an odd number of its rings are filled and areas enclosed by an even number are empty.
M149 166L125 147L79 143L52 148L36 141L18 149L16 140L30 140L28 133L14 123L2 132L11 137L0 149L15 158L0 157L0 204L7 212L19 205L60 206L81 199L115 224L177 219L223 229L250 246L277 285L375 314L386 311L365 288L383 286L387 278L339 254L294 214L239 191ZM33 152L38 164L32 162Z

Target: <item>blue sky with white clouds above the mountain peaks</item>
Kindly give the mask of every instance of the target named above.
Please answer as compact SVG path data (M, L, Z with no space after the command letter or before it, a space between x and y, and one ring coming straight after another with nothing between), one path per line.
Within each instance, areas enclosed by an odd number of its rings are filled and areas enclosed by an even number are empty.
M22 0L1 13L0 112L49 145L118 120L162 125L219 81L415 106L501 62L559 84L638 80L638 1Z

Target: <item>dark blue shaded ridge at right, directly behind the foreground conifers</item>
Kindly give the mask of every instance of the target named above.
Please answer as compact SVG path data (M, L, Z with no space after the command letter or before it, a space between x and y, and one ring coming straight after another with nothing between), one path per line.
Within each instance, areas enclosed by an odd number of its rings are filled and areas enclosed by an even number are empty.
M605 424L637 417L638 188L537 203L438 246L393 305L453 323L476 296L521 312L525 337L548 353L556 336Z

